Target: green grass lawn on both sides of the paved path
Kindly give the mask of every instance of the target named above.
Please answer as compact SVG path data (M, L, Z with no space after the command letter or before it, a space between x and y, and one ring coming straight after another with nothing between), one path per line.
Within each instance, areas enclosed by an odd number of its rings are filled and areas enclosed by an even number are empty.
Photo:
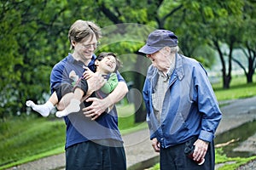
M219 101L256 96L256 83L247 84L244 77L233 78L230 89L221 86L221 82L212 85ZM147 127L145 122L134 123L133 105L118 105L117 109L122 134ZM0 122L0 169L64 152L65 129L64 121L54 116L16 116ZM220 156L220 161L225 160L229 158Z

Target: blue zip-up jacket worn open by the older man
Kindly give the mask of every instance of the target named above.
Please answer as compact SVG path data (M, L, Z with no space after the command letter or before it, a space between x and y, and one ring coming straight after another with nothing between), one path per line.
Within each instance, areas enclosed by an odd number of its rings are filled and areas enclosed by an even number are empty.
M163 94L160 122L154 115L151 97L158 77L157 69L150 65L143 87L150 139L157 138L163 148L182 144L192 136L212 142L222 114L203 66L176 54L175 70Z

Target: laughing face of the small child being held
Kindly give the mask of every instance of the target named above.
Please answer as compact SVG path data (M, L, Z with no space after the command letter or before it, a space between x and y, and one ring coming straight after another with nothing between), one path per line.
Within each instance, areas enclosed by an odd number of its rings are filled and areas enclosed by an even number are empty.
M96 60L95 65L97 66L97 71L108 74L115 71L116 59L112 55L108 55L104 57L101 61Z

